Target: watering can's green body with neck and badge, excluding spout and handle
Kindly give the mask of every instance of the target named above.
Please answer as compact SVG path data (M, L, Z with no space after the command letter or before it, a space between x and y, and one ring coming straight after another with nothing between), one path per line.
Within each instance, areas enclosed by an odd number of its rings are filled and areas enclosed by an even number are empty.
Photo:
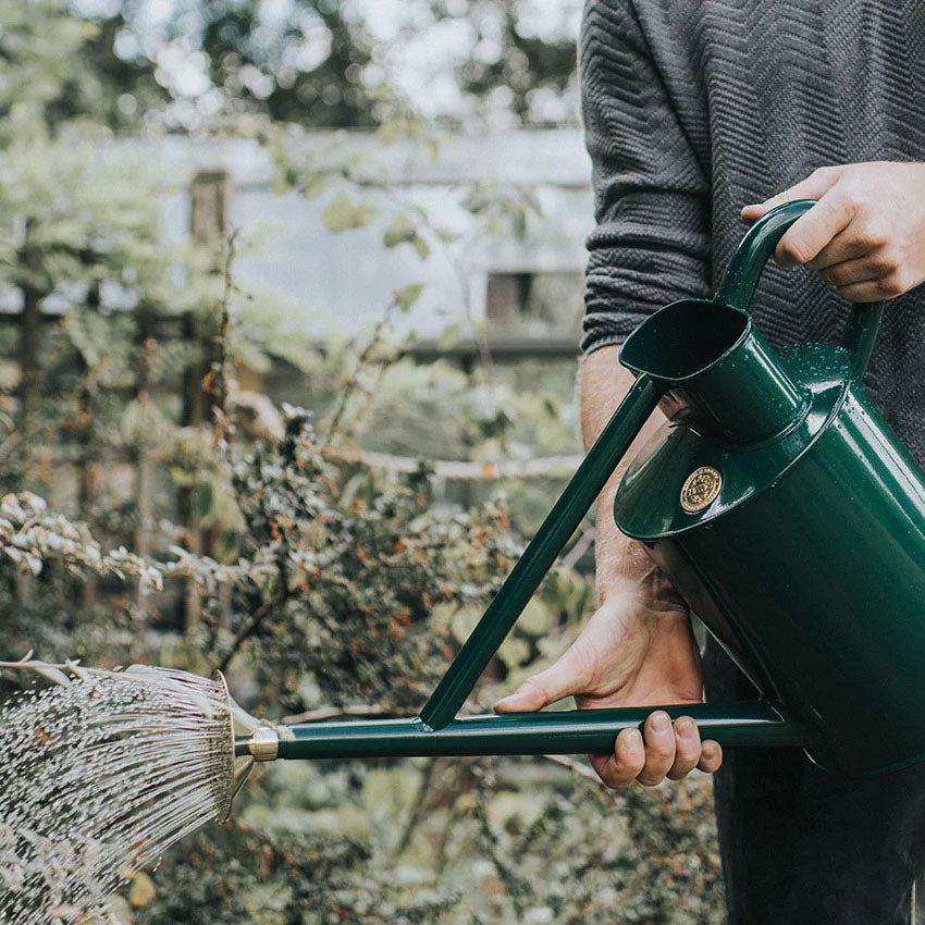
M618 527L650 547L816 763L884 770L925 757L918 467L848 350L797 345L775 357L735 309L663 311L670 338L659 332L652 348L643 326L624 347L630 366L654 367L646 374L664 372L669 340L716 337L715 320L710 334L695 330L703 311L731 316L720 336L742 332L726 350L711 344L721 358L706 370L663 379L671 417L626 472ZM755 403L760 387L775 394Z

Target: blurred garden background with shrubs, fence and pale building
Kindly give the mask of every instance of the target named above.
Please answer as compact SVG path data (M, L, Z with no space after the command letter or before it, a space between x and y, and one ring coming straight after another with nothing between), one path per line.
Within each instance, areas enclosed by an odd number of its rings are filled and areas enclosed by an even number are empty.
M580 459L579 16L0 0L0 661L221 667L273 720L416 712ZM568 645L593 552L589 520L472 711ZM720 909L702 775L380 760L261 770L109 921Z

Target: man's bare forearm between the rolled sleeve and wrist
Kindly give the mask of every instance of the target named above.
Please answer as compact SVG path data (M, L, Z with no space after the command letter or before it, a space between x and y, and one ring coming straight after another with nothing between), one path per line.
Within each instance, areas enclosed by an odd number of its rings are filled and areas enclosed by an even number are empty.
M619 365L618 354L618 346L602 347L582 365L581 436L585 449L600 436L633 383L632 373ZM662 412L656 410L597 498L597 596L602 602L627 581L652 582L659 587L663 583L645 547L620 533L612 510L614 494L628 461L664 420Z

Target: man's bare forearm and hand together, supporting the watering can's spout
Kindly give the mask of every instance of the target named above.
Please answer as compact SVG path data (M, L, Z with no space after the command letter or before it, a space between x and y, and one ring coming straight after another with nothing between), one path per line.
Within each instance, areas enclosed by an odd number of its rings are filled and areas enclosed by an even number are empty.
M581 430L584 445L597 439L632 385L632 373L617 361L619 347L602 347L582 366ZM625 459L652 439L664 418L656 411ZM568 652L551 668L525 681L495 704L499 713L542 710L575 695L579 707L666 706L700 703L700 653L687 607L656 567L648 550L617 529L614 493L622 466L597 498L596 578L601 606ZM681 716L674 726L656 710L638 729L617 736L614 753L592 755L601 779L614 788L633 780L655 785L683 777L694 767L713 772L723 753L716 742L701 747L696 724Z

